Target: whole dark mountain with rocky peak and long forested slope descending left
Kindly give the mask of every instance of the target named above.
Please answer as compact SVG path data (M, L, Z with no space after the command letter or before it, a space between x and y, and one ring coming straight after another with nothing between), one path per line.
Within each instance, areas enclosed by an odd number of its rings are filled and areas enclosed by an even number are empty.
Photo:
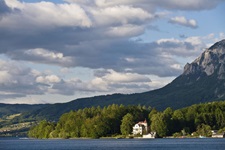
M65 112L92 106L141 104L162 110L215 100L225 100L225 40L215 43L191 64L186 64L183 74L163 88L138 94L95 96L52 104L32 111L25 117L57 120Z

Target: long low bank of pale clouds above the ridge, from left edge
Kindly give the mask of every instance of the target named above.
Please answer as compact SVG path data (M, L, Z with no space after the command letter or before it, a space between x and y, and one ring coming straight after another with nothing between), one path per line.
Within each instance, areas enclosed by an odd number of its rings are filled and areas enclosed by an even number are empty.
M2 100L29 95L77 93L133 93L151 87L147 76L137 73L119 73L114 70L98 70L93 79L63 79L46 74L14 61L0 61L0 97Z

